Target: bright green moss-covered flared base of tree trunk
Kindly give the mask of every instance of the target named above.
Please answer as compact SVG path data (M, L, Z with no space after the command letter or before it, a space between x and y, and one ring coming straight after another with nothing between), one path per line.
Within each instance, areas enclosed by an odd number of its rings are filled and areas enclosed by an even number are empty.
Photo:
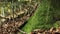
M28 23L22 28L23 31L29 33L34 29L49 29L53 26L53 6L52 0L42 0L37 8L34 16L30 18Z

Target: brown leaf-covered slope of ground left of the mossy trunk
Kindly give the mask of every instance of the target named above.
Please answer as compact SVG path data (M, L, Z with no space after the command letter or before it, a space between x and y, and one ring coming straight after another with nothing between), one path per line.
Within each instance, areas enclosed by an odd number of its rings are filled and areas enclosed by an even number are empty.
M3 24L1 24L0 34L17 34L18 31L23 32L22 30L19 29L19 27L21 27L29 19L29 17L33 15L34 11L38 6L38 3L31 6L33 7L33 9L26 15L24 14L18 15L18 17L5 21ZM27 6L26 8L30 9L31 7Z

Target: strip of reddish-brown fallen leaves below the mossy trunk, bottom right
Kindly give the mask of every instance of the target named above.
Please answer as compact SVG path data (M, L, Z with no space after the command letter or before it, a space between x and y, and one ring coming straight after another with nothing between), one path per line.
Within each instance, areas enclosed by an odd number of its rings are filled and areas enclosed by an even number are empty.
M60 27L52 27L50 30L35 29L31 32L31 34L60 34Z

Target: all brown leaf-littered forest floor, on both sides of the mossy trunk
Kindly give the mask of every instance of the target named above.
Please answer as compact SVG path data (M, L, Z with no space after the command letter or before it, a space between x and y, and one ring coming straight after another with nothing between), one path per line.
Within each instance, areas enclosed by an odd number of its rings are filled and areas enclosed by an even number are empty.
M10 19L9 21L5 21L3 24L1 24L0 34L20 34L20 33L27 34L26 32L22 31L20 28L22 28L22 26L26 24L29 18L34 15L34 12L38 7L38 3L33 2L31 4L33 5L29 4L28 6L26 5L23 7L23 8L27 8L29 11L26 14L24 13L25 15L20 14L18 15L18 17L14 19ZM30 34L60 34L60 27L58 28L52 27L49 30L35 29L31 31Z

